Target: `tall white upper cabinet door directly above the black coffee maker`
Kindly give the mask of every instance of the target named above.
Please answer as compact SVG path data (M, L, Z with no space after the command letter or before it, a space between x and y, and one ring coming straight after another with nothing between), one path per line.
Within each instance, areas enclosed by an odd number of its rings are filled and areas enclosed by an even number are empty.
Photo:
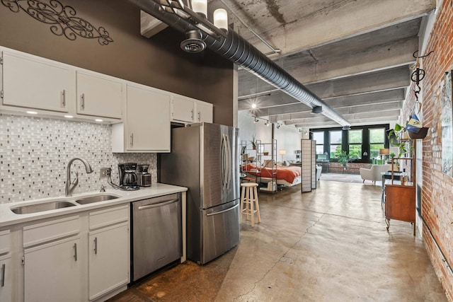
M170 95L127 86L128 151L170 151Z

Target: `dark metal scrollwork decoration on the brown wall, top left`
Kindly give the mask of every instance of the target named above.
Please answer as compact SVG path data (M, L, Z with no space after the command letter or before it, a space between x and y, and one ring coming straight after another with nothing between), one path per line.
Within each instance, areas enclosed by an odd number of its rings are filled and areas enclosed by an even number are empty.
M108 45L113 39L102 26L94 28L83 18L76 17L76 11L71 6L63 6L57 0L50 0L49 4L39 0L1 0L1 3L10 11L18 13L23 10L36 20L51 24L50 31L55 35L64 35L69 40L76 37L98 39L99 44Z

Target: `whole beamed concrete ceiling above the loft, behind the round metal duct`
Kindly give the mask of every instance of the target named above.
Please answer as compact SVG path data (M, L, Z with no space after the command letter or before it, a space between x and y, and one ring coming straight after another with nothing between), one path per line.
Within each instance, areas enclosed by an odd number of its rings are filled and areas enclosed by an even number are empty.
M212 0L209 6L226 8L236 33L354 126L398 120L412 93L410 67L420 28L435 2ZM250 29L280 52L271 53ZM239 69L239 110L296 127L338 126L245 69Z

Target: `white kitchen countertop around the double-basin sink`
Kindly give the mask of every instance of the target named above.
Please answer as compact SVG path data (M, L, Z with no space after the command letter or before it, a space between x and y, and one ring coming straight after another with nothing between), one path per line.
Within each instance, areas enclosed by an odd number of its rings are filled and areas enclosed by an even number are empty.
M141 199L147 199L151 197L158 197L166 194L185 192L186 187L178 187L176 185L165 185L161 183L154 183L151 187L140 187L140 190L136 191L122 191L108 188L105 192L88 192L82 194L74 194L71 197L52 197L45 199L35 199L26 202L14 202L8 204L0 204L0 228L5 226L11 226L16 223L24 223L29 221L35 221L38 219L45 219L60 215L74 214L81 211L90 211L92 209L100 209L103 207L110 207L114 205L127 204ZM92 204L77 204L74 207L67 207L63 209L54 209L50 211L41 211L33 214L15 214L11 211L11 208L18 206L25 206L28 204L40 204L43 202L55 202L55 201L68 201L74 202L80 197L86 197L91 195L99 194L111 194L115 195L117 199L106 200L105 202L94 202Z

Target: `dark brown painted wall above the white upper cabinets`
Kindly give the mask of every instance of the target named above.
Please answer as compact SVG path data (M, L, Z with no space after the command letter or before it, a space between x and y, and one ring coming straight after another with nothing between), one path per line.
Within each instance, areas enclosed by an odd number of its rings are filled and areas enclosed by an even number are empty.
M127 1L60 1L94 27L104 27L113 42L68 40L54 35L49 24L0 4L0 45L212 103L214 122L233 124L233 63L209 50L183 52L184 35L171 28L142 37L139 9Z

